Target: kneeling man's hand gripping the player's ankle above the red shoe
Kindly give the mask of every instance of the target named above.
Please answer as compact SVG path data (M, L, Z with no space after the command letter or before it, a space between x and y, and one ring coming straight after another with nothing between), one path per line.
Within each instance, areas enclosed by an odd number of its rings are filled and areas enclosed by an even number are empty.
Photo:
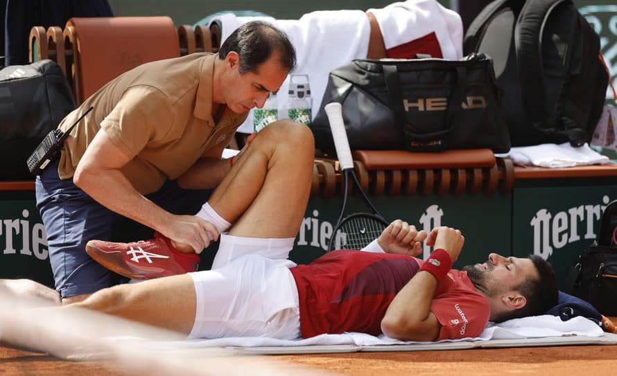
M171 239L178 251L195 253L201 253L219 235L214 224L195 215L174 215L159 232Z

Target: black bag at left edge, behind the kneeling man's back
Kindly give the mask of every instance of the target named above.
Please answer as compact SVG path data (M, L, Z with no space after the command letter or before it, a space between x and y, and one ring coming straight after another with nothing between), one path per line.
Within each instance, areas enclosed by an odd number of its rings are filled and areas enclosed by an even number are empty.
M75 109L60 66L51 60L0 70L0 180L32 180L26 159Z

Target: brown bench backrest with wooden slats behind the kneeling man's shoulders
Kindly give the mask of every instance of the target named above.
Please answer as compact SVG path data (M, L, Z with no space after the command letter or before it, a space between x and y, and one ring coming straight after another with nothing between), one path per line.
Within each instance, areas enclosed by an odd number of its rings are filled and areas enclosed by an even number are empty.
M69 19L64 29L35 26L29 37L31 62L50 59L67 75L79 105L104 84L144 62L211 52L209 28L182 25L169 17Z

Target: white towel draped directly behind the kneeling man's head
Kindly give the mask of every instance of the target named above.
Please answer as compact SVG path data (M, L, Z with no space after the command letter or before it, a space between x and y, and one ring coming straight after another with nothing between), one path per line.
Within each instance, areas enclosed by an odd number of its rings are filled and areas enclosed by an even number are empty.
M283 30L293 44L297 55L294 73L308 74L311 86L313 118L320 107L328 83L328 75L351 60L365 58L368 51L370 24L361 10L322 10L310 12L300 19L273 19L271 17L236 17L232 13L220 15L210 22L220 21L221 43L236 28L248 21L266 21ZM287 118L289 77L277 95L279 118ZM238 132L253 132L253 111Z

